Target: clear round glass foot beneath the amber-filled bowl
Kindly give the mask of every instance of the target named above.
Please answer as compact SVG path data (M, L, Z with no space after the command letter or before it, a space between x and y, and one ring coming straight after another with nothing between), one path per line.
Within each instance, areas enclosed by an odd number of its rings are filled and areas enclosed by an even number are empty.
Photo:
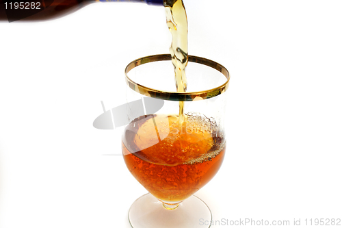
M144 194L129 209L129 223L133 228L208 228L203 223L212 219L207 204L192 196L179 203L174 210L163 207L163 203L152 194Z

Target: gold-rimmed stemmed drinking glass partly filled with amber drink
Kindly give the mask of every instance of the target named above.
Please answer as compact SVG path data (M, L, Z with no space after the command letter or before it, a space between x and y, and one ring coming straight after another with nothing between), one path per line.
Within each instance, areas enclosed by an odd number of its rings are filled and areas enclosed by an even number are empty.
M200 219L211 220L209 207L193 194L215 176L224 158L229 79L224 66L190 55L187 92L176 92L170 55L127 66L122 113L129 125L122 153L131 174L150 192L131 205L132 227L205 227ZM179 118L181 102L184 118Z

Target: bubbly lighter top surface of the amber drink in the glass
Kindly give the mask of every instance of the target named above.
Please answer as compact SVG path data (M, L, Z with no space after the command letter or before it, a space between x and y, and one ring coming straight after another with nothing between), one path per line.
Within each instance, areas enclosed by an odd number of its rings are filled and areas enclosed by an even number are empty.
M224 149L225 142L215 121L200 114L185 114L185 132L179 125L178 116L154 115L140 125L133 142L141 150L134 153L140 159L159 165L198 164L210 161ZM168 123L166 123L168 122ZM168 136L158 141L155 134Z

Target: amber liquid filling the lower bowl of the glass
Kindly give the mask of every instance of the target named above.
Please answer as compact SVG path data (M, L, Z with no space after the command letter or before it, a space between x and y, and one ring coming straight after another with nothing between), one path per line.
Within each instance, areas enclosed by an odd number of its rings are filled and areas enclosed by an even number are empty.
M164 203L179 203L205 186L218 172L225 141L216 123L185 114L141 116L122 137L124 162L142 186Z

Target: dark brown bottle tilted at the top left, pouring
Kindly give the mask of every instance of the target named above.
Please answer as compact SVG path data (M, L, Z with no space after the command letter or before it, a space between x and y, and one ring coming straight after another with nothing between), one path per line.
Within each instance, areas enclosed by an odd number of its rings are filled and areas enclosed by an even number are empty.
M163 5L163 0L0 0L0 22L47 21L71 14L90 3L111 1Z

